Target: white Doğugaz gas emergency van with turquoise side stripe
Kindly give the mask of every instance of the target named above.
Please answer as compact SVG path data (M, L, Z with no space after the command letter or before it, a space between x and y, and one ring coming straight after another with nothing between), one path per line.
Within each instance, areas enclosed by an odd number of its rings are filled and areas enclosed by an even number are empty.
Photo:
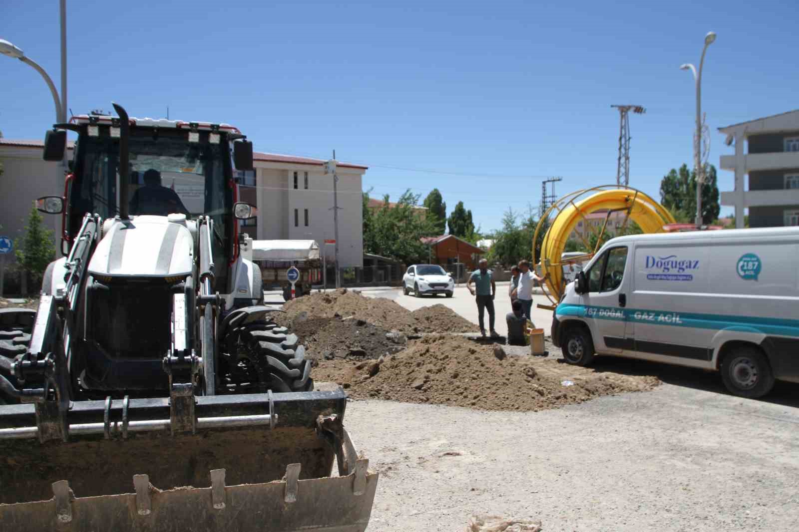
M566 287L552 341L579 366L598 354L721 371L744 397L799 383L799 227L614 238Z

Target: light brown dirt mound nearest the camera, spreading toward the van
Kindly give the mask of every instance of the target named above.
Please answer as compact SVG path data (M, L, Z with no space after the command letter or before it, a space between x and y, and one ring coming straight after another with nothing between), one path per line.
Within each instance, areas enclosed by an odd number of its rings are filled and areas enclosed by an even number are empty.
M505 356L499 345L451 335L411 340L405 351L378 360L321 360L314 379L339 383L356 399L511 411L561 407L601 395L650 390L659 383L651 376Z

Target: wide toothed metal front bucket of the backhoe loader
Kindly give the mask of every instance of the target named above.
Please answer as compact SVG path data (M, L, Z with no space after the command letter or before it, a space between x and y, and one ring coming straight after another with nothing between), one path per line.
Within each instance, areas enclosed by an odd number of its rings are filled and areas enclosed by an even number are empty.
M166 398L76 402L66 442L40 443L32 404L0 407L0 528L365 530L377 474L344 391L316 388L197 397L174 434Z

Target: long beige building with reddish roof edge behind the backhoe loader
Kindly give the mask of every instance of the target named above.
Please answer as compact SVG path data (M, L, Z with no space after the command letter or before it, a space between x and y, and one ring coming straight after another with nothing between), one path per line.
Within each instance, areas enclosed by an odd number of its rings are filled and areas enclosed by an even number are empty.
M33 201L64 193L64 169L60 163L42 160L42 141L0 138L0 236L22 236ZM72 157L71 142L70 153ZM258 216L242 222L242 231L259 240L316 240L320 252L333 259L333 177L324 175L317 159L255 153L255 172L239 173L239 198L255 204ZM339 163L340 266L361 267L364 261L363 200L361 182L366 166ZM61 242L61 216L43 215Z

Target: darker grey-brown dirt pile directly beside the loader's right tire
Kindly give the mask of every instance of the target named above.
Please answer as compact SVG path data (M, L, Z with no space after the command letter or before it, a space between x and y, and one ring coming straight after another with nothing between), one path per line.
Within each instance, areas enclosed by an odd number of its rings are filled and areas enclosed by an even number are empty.
M404 349L407 341L402 335L355 318L302 316L293 320L292 332L300 337L306 357L312 360L376 359Z

